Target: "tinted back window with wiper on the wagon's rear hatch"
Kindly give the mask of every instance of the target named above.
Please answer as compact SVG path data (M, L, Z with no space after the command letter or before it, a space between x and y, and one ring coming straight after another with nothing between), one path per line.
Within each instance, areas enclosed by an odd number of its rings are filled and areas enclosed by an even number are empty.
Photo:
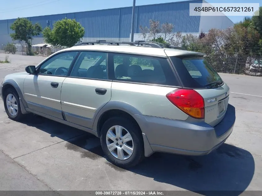
M215 88L223 84L218 73L203 58L198 56L171 57L183 87Z

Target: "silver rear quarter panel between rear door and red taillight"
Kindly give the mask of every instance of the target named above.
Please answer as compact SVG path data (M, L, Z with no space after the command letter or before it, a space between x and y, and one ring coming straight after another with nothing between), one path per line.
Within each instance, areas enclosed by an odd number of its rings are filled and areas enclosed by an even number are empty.
M110 101L126 102L140 111L142 115L186 120L188 115L175 107L166 97L169 92L175 89L173 87L113 82Z

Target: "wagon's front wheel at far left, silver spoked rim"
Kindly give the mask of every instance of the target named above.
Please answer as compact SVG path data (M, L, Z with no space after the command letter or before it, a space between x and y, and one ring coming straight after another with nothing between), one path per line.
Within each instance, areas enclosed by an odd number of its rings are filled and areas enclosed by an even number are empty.
M10 102L12 100L12 102ZM7 115L12 120L21 120L21 118L24 116L21 112L20 107L20 101L19 101L19 95L17 94L16 90L14 89L7 89L4 92L4 107ZM11 103L11 105L7 105L7 102ZM11 109L10 109L11 107ZM9 110L10 111L9 111Z

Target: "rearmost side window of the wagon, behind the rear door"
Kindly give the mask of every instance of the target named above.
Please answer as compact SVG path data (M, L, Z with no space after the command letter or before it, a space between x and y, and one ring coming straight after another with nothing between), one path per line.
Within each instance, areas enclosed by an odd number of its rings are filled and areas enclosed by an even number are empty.
M114 80L180 86L165 58L129 54L111 54L111 57Z

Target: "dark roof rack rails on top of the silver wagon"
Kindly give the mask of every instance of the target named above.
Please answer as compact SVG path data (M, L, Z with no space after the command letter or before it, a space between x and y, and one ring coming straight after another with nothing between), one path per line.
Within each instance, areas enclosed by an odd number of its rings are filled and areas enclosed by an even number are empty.
M163 44L156 41L144 41L144 40L136 40L136 41L106 41L106 40L96 40L96 41L87 41L87 42L79 42L74 46L81 45L95 45L95 44L107 44L110 46L119 46L119 44L128 44L130 46L151 46L152 48L172 48L178 50L186 50L182 47L169 46L168 44Z

